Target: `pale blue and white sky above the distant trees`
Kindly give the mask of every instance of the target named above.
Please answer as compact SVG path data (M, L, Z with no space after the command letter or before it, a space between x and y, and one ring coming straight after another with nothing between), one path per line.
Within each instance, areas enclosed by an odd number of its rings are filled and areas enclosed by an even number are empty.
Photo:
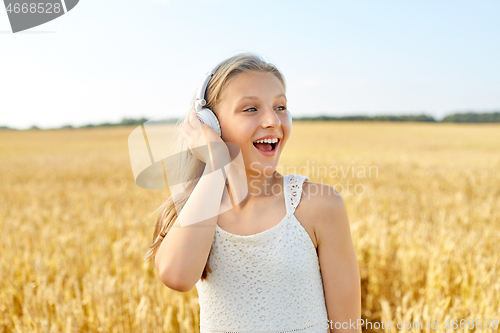
M274 63L294 116L500 109L500 1L81 0L12 34L0 126L179 117L239 52Z

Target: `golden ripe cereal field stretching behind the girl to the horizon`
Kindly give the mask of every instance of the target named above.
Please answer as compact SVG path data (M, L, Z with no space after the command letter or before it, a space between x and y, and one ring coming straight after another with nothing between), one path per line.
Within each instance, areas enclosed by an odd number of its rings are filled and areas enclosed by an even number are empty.
M168 192L135 185L134 128L0 131L0 332L198 331L142 259ZM498 332L500 125L294 122L278 171L344 186L363 319L424 323L366 331Z

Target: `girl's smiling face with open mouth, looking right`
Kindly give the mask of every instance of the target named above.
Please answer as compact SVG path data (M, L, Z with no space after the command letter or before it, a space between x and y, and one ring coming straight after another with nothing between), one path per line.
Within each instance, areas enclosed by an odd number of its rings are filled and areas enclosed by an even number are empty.
M215 111L222 140L240 147L247 175L271 175L291 131L292 117L280 80L267 72L240 73L227 82ZM268 137L279 140L271 144L272 151L265 151L269 144L254 144Z

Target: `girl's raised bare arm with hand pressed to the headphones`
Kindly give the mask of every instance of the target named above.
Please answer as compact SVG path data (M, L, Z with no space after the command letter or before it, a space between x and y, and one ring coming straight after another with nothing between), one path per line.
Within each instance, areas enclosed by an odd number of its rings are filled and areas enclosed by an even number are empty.
M206 163L206 172L160 244L155 266L167 287L189 291L200 279L210 254L225 189L220 167L228 166L231 157L222 139L199 121L194 110L181 128L181 133L193 155ZM205 146L207 142L211 149L195 149ZM213 172L212 165L215 167ZM232 169L226 170L230 182L234 173Z

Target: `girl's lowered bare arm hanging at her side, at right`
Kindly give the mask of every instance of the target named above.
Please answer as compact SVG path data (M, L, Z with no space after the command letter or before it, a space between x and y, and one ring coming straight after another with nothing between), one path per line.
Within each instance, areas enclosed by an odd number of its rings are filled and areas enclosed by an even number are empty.
M330 332L361 333L359 268L344 200L329 187L319 201L315 229Z

